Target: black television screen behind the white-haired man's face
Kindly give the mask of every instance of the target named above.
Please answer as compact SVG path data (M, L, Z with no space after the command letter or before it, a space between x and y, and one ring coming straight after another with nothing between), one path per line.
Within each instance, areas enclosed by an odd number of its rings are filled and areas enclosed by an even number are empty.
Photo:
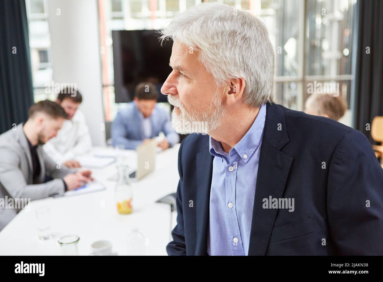
M173 41L162 46L156 30L113 30L113 65L116 103L133 100L139 82L152 82L159 91L159 102L167 102L160 89L172 72L169 66Z

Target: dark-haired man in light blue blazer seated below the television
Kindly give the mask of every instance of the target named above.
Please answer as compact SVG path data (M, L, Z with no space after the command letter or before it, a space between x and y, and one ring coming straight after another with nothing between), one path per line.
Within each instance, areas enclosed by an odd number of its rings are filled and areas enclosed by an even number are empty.
M158 143L167 149L179 142L179 136L172 129L170 114L157 106L158 92L150 82L136 86L134 100L119 110L111 127L113 146L135 149L146 139L158 136L162 131L165 138Z

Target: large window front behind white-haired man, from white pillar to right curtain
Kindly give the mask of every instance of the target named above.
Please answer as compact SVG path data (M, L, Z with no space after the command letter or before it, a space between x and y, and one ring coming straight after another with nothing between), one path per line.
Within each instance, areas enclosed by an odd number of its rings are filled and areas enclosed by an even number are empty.
M112 30L159 29L199 0L99 0L106 120L113 120ZM332 83L350 105L352 19L356 0L219 0L260 16L275 50L274 99L304 110L313 84ZM102 53L102 52L101 52ZM350 110L344 122L351 125Z

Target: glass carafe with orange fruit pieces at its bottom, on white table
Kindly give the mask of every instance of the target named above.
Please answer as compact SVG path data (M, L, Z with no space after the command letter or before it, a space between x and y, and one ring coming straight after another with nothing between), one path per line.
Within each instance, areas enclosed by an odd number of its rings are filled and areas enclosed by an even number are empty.
M132 213L132 197L133 191L129 175L127 173L128 169L126 166L119 164L117 166L118 170L118 180L116 185L116 203L117 211L121 214Z

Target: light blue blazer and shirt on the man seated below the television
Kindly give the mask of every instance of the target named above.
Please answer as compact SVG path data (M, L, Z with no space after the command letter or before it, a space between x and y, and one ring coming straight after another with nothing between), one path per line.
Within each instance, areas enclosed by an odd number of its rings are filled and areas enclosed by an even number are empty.
M136 102L132 101L118 111L111 126L111 138L113 146L123 145L126 149L135 149L145 138L158 136L161 131L170 146L180 141L179 135L172 129L169 112L155 105L150 117L144 119Z

